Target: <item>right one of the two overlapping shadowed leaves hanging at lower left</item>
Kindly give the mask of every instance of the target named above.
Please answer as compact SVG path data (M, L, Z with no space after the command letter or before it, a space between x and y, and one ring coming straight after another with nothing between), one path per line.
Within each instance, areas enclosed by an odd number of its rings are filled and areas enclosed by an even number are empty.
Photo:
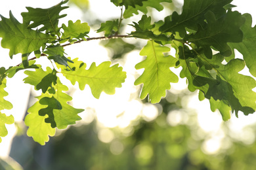
M60 80L53 85L55 93L49 93L48 96L42 97L39 100L41 105L47 105L47 108L39 110L39 115L48 114L49 118L45 122L51 123L51 127L58 127L58 129L65 129L68 125L75 124L81 118L77 115L83 109L75 109L68 105L68 101L72 101L70 95L62 92L67 91L68 87L63 85Z

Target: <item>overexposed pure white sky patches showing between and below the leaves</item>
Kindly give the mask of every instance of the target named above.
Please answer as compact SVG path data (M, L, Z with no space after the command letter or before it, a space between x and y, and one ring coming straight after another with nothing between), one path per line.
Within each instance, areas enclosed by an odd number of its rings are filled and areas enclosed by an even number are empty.
M5 16L6 18L9 18L9 10L12 11L12 14L20 21L22 22L22 17L20 16L21 12L26 12L25 7L40 7L40 8L48 8L52 7L53 5L56 5L56 3L59 3L60 1L53 1L53 0L45 0L45 1L34 1L34 0L9 0L9 1L1 1L0 2L0 14ZM234 0L234 5L237 5L237 8L234 8L242 13L248 12L250 13L253 18L256 18L255 9L253 8L254 4L251 0ZM93 0L91 1L91 9L96 11L96 14L99 18L102 18L102 20L108 20L111 18L118 18L119 17L119 8L115 7L110 3L110 1L102 1L102 0ZM100 12L97 12L100 11ZM80 16L82 16L79 9L70 8L64 10L64 13L68 14L66 18L62 19L62 22L64 24L68 23L68 20L78 20ZM86 22L86 21L83 21ZM253 23L255 21L253 20ZM91 36L96 36L95 31L92 30ZM97 46L98 41L90 41L90 42L83 42L81 44L76 44L75 46L68 46L66 48L66 53L72 56L72 58L81 57L84 61L86 61L87 65L91 65L93 61L96 62L96 64L99 64L102 61L108 60L108 52L102 48L102 46L98 46L97 49L95 49L95 46ZM95 52L96 51L96 52ZM16 65L20 63L21 59L20 56L14 56L14 59L9 59L9 50L3 49L0 47L0 54L1 54L1 63L0 67L9 67L11 65ZM93 57L91 57L93 56ZM152 106L144 106L142 107L140 101L129 101L129 93L135 92L137 90L137 87L133 86L134 78L133 74L137 73L134 69L134 65L140 61L141 57L139 56L138 52L133 52L133 55L129 56L129 60L127 60L127 63L123 65L125 71L131 70L127 75L127 80L125 80L125 84L123 84L123 88L119 88L116 90L116 95L105 95L104 93L101 95L100 100L96 100L93 97L91 97L91 92L89 88L85 88L84 92L77 91L74 93L74 107L77 108L85 108L85 103L87 104L86 107L95 108L96 112L98 112L98 120L102 122L104 126L107 127L114 127L114 126L127 126L129 124L130 120L133 120L136 118L138 114L140 114L140 110L148 110L150 107L150 110L156 110L156 108L153 108ZM26 111L26 105L27 105L27 98L30 92L30 86L28 84L24 84L22 82L22 79L24 78L24 75L22 73L18 73L14 78L11 78L7 82L7 92L9 92L9 96L6 97L8 101L11 101L13 104L12 110L6 110L6 114L12 114L15 117L16 121L22 120L24 116L24 112ZM184 81L183 81L184 82ZM181 84L175 85L172 84L172 88L179 89L181 87ZM116 103L119 103L120 107L114 107L116 106ZM99 106L100 107L97 107ZM200 126L205 131L219 131L219 126L222 123L220 114L212 113L209 110L209 104L207 101L199 102L197 97L192 99L190 101L190 107L198 109L198 122ZM205 106L205 107L201 107ZM134 108L134 109L132 109ZM119 120L116 118L116 114L119 114L122 110L126 109L127 111L127 117L123 120ZM137 114L137 115L136 115ZM149 115L148 118L154 117L156 114L154 112L152 115ZM127 122L128 120L128 122ZM234 131L237 131L237 134L239 134L242 131L242 128L245 124L255 122L255 116L242 116L240 114L240 118L232 118L230 121L232 128L234 128ZM14 126L7 125L9 129L13 129ZM0 156L7 156L9 153L9 144L11 141L11 138L14 135L14 131L10 131L9 135L7 137L3 137L3 142L0 143ZM209 140L209 143L205 143L205 148L207 148L207 144L215 143L216 146L216 139L213 138ZM213 146L213 145L211 145ZM217 147L217 146L216 146ZM209 148L209 147L208 147ZM211 150L208 150L211 152ZM205 151L206 152L206 151ZM213 150L214 152L214 150Z

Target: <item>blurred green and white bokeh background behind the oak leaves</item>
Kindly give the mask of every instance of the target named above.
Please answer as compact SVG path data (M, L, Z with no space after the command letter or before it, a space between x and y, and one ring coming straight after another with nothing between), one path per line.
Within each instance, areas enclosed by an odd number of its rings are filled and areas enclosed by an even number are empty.
M21 12L25 7L49 8L60 1L10 0L0 2L0 14L9 18L9 10L22 22ZM158 12L148 9L153 20L163 18L174 10L181 12L182 1L163 3L165 10ZM248 12L256 18L251 1L233 1L242 13ZM103 0L70 0L68 14L60 24L68 20L81 20L91 26L89 37L100 37L96 33L101 22L119 18L120 9ZM127 25L139 21L142 12L123 20L120 34L129 33L133 27ZM253 24L255 24L253 22ZM139 50L146 41L138 39L111 39L89 41L67 46L65 52L71 58L79 57L89 67L92 62L98 65L110 60L119 63L127 72L122 88L115 95L102 93L100 99L93 98L90 88L80 91L77 84L68 84L72 95L72 105L85 109L79 114L82 120L64 130L57 130L50 141L41 146L26 135L24 125L26 110L35 102L40 92L22 82L25 75L18 72L7 80L5 99L13 104L12 110L5 110L16 120L7 125L9 135L0 143L1 169L38 170L129 170L129 169L255 169L256 166L256 118L253 114L223 122L219 112L211 112L208 101L198 101L197 92L186 89L186 80L171 84L171 90L160 103L152 105L147 99L140 100L141 86L133 82L142 73L135 65L143 56ZM9 59L9 50L0 48L3 56L0 67L20 63L20 56ZM171 54L175 51L171 49ZM237 53L238 54L238 53ZM239 54L237 55L239 57ZM51 63L40 58L38 63ZM179 69L172 69L179 75ZM247 74L246 68L244 69ZM64 81L64 80L63 80Z

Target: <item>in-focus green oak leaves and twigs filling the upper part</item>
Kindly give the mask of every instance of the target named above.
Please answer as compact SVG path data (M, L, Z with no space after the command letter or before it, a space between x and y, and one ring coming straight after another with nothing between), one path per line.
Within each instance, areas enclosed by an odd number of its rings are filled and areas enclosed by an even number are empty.
M245 115L255 112L255 79L240 74L246 66L251 75L256 75L255 27L251 27L249 14L232 10L232 0L184 0L181 14L172 12L159 21L152 20L148 7L160 11L171 5L171 0L111 0L120 7L121 16L100 24L96 32L104 32L104 37L89 37L91 28L80 20L60 24L61 18L66 16L60 13L68 9L67 2L61 1L49 9L28 7L28 12L22 12L23 23L18 22L12 12L10 18L0 15L1 46L9 48L11 58L21 54L20 65L0 68L0 110L12 108L4 99L8 95L4 90L7 77L12 78L23 70L27 75L24 83L41 92L25 118L28 135L38 143L49 141L56 128L64 129L81 119L78 114L83 109L75 109L69 104L72 97L66 93L68 87L62 84L60 76L73 85L77 82L80 90L88 85L97 99L102 92L114 94L125 82L126 73L118 64L104 61L100 65L92 63L87 69L87 64L78 58L68 58L65 46L81 41L108 39L106 48L122 46L130 49L123 52L130 52L137 46L121 38L146 40L140 51L146 59L135 65L136 69L144 69L135 80L136 86L143 84L140 99L148 96L151 103L160 102L171 83L179 81L171 69L181 67L179 76L186 78L188 89L198 90L200 100L209 99L211 110L218 109L223 120L228 120L231 112L236 116L238 112ZM125 27L123 20L139 11L144 13L141 19L128 24L134 31L119 35ZM68 44L63 44L65 42ZM115 46L114 43L119 44ZM236 58L235 49L243 54L243 59ZM169 55L170 50L175 50L175 56ZM30 58L32 53L35 58ZM53 67L44 69L44 65L35 64L35 60L42 57L49 59ZM1 137L7 135L5 124L13 122L13 116L0 112Z

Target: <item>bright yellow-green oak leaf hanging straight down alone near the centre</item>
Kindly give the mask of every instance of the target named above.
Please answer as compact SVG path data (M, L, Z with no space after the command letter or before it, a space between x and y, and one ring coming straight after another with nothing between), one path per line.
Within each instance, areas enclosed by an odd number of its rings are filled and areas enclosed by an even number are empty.
M143 84L140 99L148 98L151 103L158 103L161 97L165 97L166 90L171 88L171 82L178 82L179 78L169 68L175 66L176 58L164 56L164 52L169 52L167 46L160 46L154 41L148 41L142 48L140 56L147 58L135 65L136 69L144 68L142 75L135 80L135 85Z

